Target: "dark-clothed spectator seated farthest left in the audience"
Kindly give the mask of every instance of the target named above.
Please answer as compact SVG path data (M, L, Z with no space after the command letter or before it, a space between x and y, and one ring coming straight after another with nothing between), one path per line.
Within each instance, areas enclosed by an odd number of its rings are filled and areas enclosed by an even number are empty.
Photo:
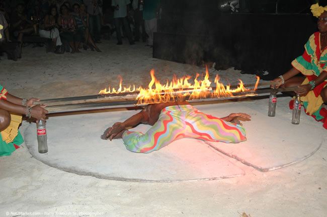
M23 36L30 35L34 32L33 22L27 18L25 13L25 6L18 4L16 11L11 17L11 33L20 43L20 56L22 54Z

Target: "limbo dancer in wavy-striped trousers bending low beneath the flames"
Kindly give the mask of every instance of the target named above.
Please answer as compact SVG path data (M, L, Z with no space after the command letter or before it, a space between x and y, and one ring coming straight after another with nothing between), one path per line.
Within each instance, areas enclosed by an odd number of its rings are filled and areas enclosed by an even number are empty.
M239 143L247 139L245 129L236 120L237 117L251 118L244 113L232 113L219 119L200 112L186 101L149 104L125 122L115 123L101 138L122 138L129 151L142 153L158 150L182 138ZM140 123L152 127L145 134L127 130Z

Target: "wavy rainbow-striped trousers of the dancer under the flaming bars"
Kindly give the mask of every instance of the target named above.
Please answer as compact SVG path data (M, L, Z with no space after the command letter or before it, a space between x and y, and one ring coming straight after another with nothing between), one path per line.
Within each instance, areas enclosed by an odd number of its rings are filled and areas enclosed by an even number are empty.
M245 136L242 126L206 115L187 104L163 108L158 121L145 134L125 131L122 138L128 150L149 153L182 138L239 143L247 140Z

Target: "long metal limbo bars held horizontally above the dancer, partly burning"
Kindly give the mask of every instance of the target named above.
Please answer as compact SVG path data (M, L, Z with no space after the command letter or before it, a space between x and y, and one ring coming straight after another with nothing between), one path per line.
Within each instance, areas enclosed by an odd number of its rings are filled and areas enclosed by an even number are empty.
M257 86L268 86L274 85L277 82L266 82L259 83ZM250 87L255 86L256 84L243 84L243 86ZM230 89L235 88L236 86L230 86ZM296 91L299 89L296 88L260 88L260 89L251 89L247 91L239 92L230 92L228 95L221 97L200 97L200 98L190 98L190 94L185 96L182 100L178 100L175 97L180 96L184 93L193 93L195 90L191 88L178 89L173 92L159 92L156 94L167 95L169 94L169 99L167 101L160 102L169 102L169 101L189 101L189 102L200 102L200 101L212 101L212 100L223 100L231 98L240 98L246 96L253 96L258 94L270 93L270 92L287 92L287 91ZM214 93L216 87L209 87L207 91L209 93ZM58 112L71 112L71 111L83 111L83 110L94 110L94 109L103 109L103 108L119 108L119 107L135 107L135 106L144 106L146 104L152 103L140 103L137 100L139 91L134 92L124 92L124 93L114 93L114 94L97 94L97 95L87 95L87 96L75 96L75 97L66 97L66 98L55 98L55 99L44 99L40 101L35 101L35 104L47 104L47 110L49 113L58 113ZM154 102L155 103L155 102Z

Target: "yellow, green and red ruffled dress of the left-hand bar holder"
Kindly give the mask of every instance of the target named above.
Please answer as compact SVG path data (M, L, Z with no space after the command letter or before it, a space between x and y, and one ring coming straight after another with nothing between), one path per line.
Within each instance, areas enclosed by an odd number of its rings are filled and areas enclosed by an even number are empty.
M7 90L0 85L0 100L7 100ZM22 122L22 115L10 114L10 125L0 132L0 157L11 155L24 142L18 127Z

